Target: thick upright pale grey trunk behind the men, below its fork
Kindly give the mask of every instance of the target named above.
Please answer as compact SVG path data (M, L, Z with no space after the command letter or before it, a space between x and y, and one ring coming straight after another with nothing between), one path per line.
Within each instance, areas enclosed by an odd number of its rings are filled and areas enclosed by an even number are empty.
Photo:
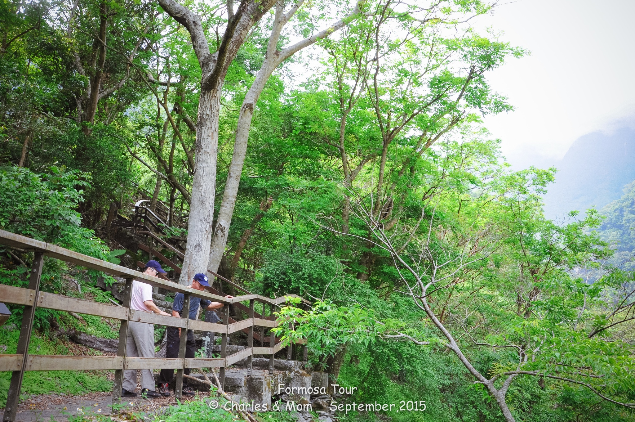
M222 83L219 83L212 90L203 90L199 100L187 245L178 280L182 285L189 285L196 273L206 273L208 268L214 219L221 89Z

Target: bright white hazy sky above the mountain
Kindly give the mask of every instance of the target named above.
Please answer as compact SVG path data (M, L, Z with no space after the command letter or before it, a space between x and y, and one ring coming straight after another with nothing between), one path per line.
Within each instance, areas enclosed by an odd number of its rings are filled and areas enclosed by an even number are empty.
M635 0L501 0L477 27L531 51L488 76L516 111L486 126L515 168L562 158L585 133L635 117Z

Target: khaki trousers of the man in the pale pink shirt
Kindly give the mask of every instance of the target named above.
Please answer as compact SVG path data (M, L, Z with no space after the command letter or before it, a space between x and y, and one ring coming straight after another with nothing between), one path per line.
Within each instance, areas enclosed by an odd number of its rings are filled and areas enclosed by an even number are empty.
M128 323L128 337L126 338L126 356L153 358L154 357L154 325L144 322L130 321ZM141 370L142 389L154 391L154 376L152 370ZM124 390L137 389L137 369L123 371Z

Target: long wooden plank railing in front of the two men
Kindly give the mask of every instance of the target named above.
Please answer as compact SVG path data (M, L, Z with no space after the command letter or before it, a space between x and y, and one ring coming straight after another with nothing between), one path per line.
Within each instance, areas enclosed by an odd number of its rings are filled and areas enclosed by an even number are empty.
M276 339L274 335L271 334L271 338L267 342L270 347L262 347L264 340L264 327L272 328L277 326L277 322L273 320L273 317L264 316L264 307L265 304L269 304L269 306L271 306L271 315L273 315L275 307L286 302L287 297L298 297L290 295L271 299L269 297L256 294L249 294L246 296L228 299L218 294L189 289L188 287L178 283L149 276L133 269L112 264L111 262L79 254L57 245L51 245L50 243L44 243L25 236L15 235L14 233L4 230L0 230L0 244L25 250L32 250L34 252L34 260L30 271L28 288L0 284L0 301L24 306L17 353L0 354L0 371L13 371L6 407L4 409L3 421L5 422L13 422L15 420L18 398L20 397L20 388L22 386L22 379L25 371L114 370L116 372L114 391L112 394L113 403L118 402L121 397L121 385L123 381L123 371L125 369L177 369L175 385L175 395L177 398L181 398L182 396L183 371L186 368L219 368L220 383L224 385L226 367L235 364L239 360L247 358L248 373L251 373L252 357L254 355L267 355L269 356L269 371L273 372L274 355L278 351L282 350L282 344L276 344ZM123 294L123 306L97 303L84 299L77 299L76 297L62 296L60 294L40 291L39 287L44 255L125 278L126 286ZM133 280L148 283L152 286L161 287L162 289L170 290L172 292L183 293L185 295L185 300L184 309L181 312L182 317L168 317L166 315L130 309L130 295ZM220 316L222 317L223 323L203 322L187 318L189 315L190 296L201 297L203 299L209 299L210 301L225 304L222 310L220 310ZM244 301L249 301L249 308L241 304L241 302ZM255 302L262 303L262 315L255 313ZM229 304L236 304L241 310L247 311L248 318L229 323ZM84 313L87 315L97 315L98 317L120 320L121 325L119 328L119 348L117 350L117 356L30 355L28 353L29 340L36 308L48 308L58 311ZM257 318L255 315L262 318ZM128 322L130 321L220 334L222 338L220 358L185 358L187 336L181 336L178 358L126 357L126 337L128 336ZM260 337L261 347L253 346L254 327L263 327L263 336ZM234 353L233 355L227 356L229 334L244 329L248 329L247 347L244 350ZM306 341L304 340L298 343L305 344ZM306 346L304 346L304 360L306 360L306 352ZM291 346L287 347L287 358L291 358ZM116 407L113 407L113 412L116 412Z

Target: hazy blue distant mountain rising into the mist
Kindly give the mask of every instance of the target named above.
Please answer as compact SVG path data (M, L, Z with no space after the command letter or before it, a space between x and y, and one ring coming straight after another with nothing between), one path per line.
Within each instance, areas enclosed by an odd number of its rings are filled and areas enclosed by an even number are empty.
M573 142L555 167L556 183L545 196L547 217L602 208L620 198L624 186L635 180L635 130L584 135Z

